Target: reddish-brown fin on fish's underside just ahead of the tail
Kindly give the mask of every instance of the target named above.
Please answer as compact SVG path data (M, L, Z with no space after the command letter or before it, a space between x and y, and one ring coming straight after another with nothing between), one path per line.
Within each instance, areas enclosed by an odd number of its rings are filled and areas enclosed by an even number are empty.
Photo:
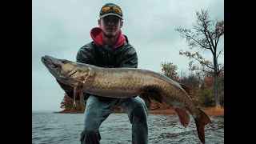
M186 110L180 108L174 108L175 112L178 114L179 121L182 123L182 126L185 128L190 124L190 114Z

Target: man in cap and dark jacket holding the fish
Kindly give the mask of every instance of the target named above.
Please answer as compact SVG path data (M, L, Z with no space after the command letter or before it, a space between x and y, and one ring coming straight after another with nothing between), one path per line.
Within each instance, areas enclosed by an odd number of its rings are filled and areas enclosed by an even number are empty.
M77 62L102 67L134 67L138 66L136 50L130 45L128 38L122 34L122 10L114 3L107 3L100 10L98 26L90 30L93 42L89 42L78 50ZM60 83L60 82L59 82ZM62 89L73 98L72 88L60 83ZM142 98L103 98L93 94L86 100L85 126L81 134L82 144L99 143L101 136L99 126L118 106L128 114L132 124L132 143L148 142L148 111Z

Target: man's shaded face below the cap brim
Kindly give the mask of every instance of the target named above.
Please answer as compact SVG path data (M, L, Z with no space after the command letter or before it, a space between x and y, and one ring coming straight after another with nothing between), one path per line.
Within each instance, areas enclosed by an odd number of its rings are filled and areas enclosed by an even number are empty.
M122 27L121 18L114 15L106 16L98 20L98 25L102 27L103 34L106 37L114 38Z

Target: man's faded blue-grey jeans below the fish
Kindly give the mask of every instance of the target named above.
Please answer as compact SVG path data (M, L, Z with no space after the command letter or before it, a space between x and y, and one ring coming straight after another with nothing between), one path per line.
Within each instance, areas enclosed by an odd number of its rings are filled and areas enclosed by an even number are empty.
M102 101L100 98L90 95L86 101L85 126L81 133L81 144L97 144L101 136L99 126L112 113L114 106L118 106L128 114L132 124L132 143L146 144L148 142L148 111L142 98L113 98L110 101Z

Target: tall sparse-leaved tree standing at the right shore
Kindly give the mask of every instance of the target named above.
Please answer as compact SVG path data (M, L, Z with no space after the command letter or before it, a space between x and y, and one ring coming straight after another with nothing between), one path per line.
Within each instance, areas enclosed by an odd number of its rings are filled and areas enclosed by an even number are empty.
M215 106L219 107L218 98L218 76L224 68L224 62L219 62L220 56L224 56L224 46L218 46L220 38L224 35L224 20L211 20L207 10L196 11L197 21L190 28L177 28L182 38L186 38L186 42L190 50L194 49L194 53L190 51L180 50L179 54L190 58L190 70L198 70L214 74L214 95ZM223 39L224 40L224 39ZM211 61L202 57L202 52L209 51L213 58Z

